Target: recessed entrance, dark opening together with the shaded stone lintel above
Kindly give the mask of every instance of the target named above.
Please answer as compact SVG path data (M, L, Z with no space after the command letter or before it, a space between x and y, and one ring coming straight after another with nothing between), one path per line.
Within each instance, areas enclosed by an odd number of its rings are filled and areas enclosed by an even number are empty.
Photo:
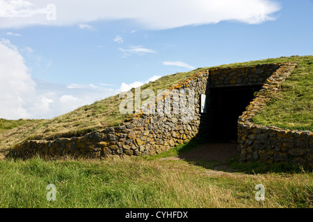
M200 137L211 142L236 142L239 117L279 68L278 64L266 64L209 70Z

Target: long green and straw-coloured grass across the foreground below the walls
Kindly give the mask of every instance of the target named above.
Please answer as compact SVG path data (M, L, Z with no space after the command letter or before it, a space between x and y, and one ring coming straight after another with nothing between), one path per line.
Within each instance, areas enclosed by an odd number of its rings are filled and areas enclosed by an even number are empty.
M184 161L3 160L0 207L313 207L313 173L210 173ZM47 185L56 185L48 201ZM266 188L255 200L255 185Z

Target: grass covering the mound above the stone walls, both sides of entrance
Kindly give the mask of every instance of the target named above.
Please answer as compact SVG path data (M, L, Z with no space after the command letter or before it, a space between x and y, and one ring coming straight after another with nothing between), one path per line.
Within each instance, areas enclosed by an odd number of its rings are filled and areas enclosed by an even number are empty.
M282 85L282 92L273 95L266 110L258 114L254 121L266 126L313 131L313 56L271 58L219 67L247 67L279 62L298 62L298 67ZM143 85L141 89L153 89L154 92L157 92L157 89L166 89L191 74L212 68L216 67L205 67L186 73L163 76L154 82ZM132 90L134 92L134 89ZM10 126L0 123L0 152L26 139L80 136L92 130L117 126L127 118L127 115L120 114L118 110L121 101L122 99L118 95L111 96L48 120L2 120Z

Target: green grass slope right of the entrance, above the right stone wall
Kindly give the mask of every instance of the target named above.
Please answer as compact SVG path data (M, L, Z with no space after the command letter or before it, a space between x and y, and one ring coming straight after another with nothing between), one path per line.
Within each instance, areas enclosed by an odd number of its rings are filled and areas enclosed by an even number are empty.
M253 119L264 126L313 131L313 56L294 58L298 67Z

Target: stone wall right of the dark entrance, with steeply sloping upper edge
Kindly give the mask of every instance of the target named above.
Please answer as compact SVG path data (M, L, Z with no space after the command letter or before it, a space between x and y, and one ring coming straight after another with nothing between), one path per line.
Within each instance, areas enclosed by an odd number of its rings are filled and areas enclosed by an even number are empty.
M259 94L243 112L238 121L238 152L240 162L291 162L313 167L313 133L265 127L252 123L270 95L280 90L282 82L291 74L296 64L286 64L264 83Z

